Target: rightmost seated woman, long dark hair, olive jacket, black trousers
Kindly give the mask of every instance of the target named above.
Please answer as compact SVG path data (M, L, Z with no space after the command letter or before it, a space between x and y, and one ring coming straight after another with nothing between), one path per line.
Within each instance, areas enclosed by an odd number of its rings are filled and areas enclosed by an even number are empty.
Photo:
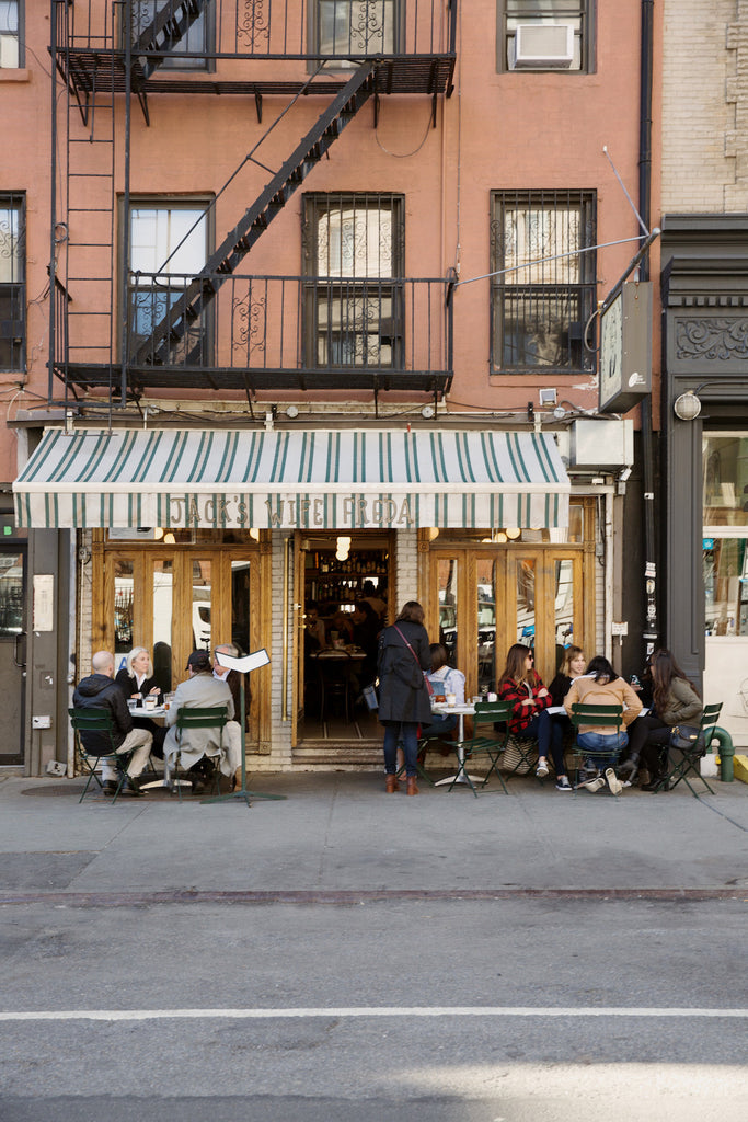
M652 709L631 725L629 757L620 765L620 773L636 778L640 764L649 772L649 782L643 791L654 791L665 776L667 745L673 725L698 725L703 711L699 692L678 666L669 651L655 651L649 659L652 677Z

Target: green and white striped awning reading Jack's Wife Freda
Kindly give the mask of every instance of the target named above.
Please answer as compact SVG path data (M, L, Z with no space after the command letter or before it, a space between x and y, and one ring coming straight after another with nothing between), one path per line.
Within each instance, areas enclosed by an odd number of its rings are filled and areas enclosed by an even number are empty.
M19 526L299 530L569 522L550 433L47 430L13 484Z

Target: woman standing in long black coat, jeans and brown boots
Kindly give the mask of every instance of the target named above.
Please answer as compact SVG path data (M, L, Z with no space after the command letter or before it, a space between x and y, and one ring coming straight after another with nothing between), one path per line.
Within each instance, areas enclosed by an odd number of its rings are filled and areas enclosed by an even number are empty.
M385 726L386 791L394 794L397 783L397 745L403 742L407 793L417 794L416 761L418 726L432 719L424 670L431 670L431 646L424 627L424 610L408 600L391 627L379 636L379 720Z

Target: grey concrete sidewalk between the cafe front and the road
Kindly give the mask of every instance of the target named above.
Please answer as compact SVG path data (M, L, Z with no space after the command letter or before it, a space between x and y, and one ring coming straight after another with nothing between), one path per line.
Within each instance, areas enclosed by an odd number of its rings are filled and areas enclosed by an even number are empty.
M151 792L79 806L81 780L0 776L0 903L46 893L748 892L748 787L694 799L562 794L534 778L386 795L373 773L252 775L285 801Z

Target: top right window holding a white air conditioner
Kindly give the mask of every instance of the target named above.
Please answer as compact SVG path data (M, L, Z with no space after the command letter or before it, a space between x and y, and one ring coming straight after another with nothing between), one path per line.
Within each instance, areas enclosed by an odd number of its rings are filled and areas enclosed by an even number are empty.
M517 28L527 28L534 36L538 54L547 52L545 62L534 65L527 59L523 70L591 73L594 70L594 0L498 0L497 68L518 70ZM544 31L543 28L547 28ZM562 31L571 28L571 62L555 57ZM525 33L527 34L527 33ZM561 38L560 38L561 37Z

